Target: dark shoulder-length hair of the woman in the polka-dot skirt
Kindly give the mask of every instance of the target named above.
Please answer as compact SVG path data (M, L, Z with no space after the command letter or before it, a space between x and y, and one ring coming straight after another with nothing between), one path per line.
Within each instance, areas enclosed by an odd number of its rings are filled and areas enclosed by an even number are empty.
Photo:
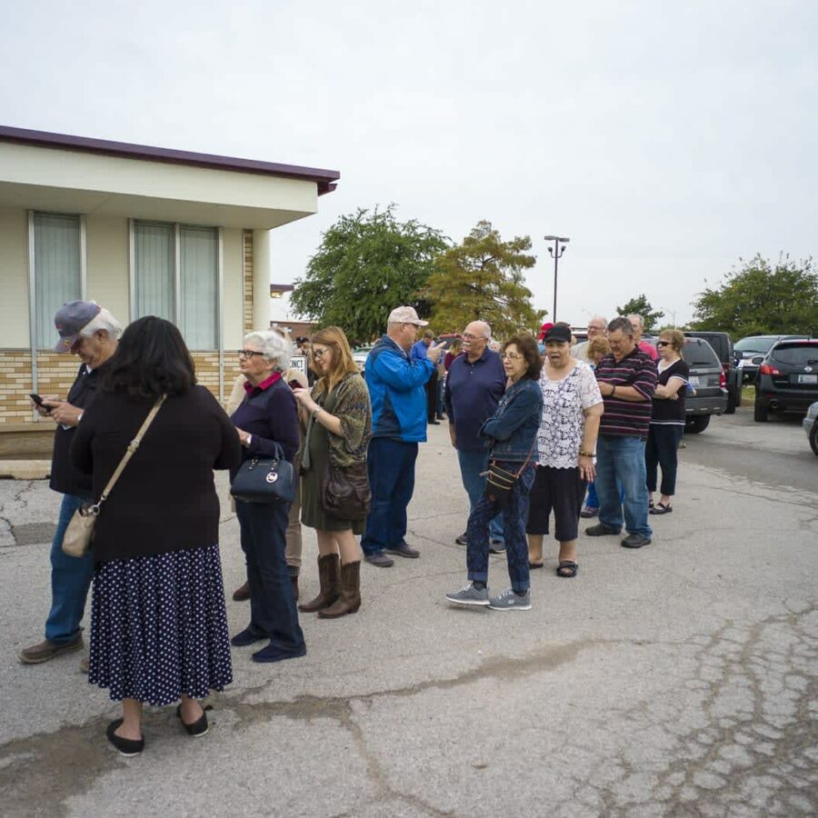
M182 334L170 321L145 315L125 327L100 385L105 392L155 400L187 392L195 383L193 358Z

